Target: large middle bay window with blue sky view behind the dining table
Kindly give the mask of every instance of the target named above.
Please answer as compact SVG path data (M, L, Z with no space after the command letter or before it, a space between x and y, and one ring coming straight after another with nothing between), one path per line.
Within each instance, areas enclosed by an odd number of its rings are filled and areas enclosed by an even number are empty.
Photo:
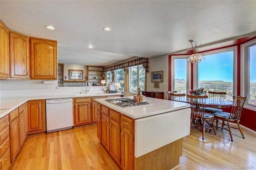
M205 91L227 92L225 100L233 100L234 50L216 50L204 53L205 60L198 63L198 85Z

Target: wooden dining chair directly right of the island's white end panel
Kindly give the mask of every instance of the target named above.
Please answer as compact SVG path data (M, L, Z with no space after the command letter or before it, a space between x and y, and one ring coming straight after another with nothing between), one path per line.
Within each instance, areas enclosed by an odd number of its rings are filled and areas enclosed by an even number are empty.
M205 101L208 98L208 96L194 96L194 95L187 95L188 101L190 103L191 108L191 117L192 121L194 121L194 125L196 127L202 128L202 139L204 140L204 132L205 128L214 130L214 134L216 134L216 129L214 126L214 115L210 113L204 112L205 107ZM210 127L205 127L205 121L211 121Z

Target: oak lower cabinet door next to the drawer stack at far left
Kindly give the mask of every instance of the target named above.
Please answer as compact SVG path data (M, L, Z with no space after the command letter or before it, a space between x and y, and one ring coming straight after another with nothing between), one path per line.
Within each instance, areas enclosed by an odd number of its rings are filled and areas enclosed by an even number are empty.
M18 117L10 123L10 149L12 162L20 149Z

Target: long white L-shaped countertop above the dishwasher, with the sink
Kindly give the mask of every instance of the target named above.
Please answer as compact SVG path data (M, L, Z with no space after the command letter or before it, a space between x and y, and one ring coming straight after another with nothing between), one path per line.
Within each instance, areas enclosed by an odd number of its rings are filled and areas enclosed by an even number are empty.
M66 94L66 95L40 95L40 96L21 96L21 97L2 97L0 98L0 118L4 117L23 103L29 100L40 99L62 99L74 97L93 97L93 96L113 96L122 93L88 93L88 94Z

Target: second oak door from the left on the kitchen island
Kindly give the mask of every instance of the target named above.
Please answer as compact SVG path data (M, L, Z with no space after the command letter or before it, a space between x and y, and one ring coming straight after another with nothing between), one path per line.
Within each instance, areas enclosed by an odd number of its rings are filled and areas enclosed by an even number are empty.
M101 123L102 145L109 151L109 118L104 114L101 115Z

